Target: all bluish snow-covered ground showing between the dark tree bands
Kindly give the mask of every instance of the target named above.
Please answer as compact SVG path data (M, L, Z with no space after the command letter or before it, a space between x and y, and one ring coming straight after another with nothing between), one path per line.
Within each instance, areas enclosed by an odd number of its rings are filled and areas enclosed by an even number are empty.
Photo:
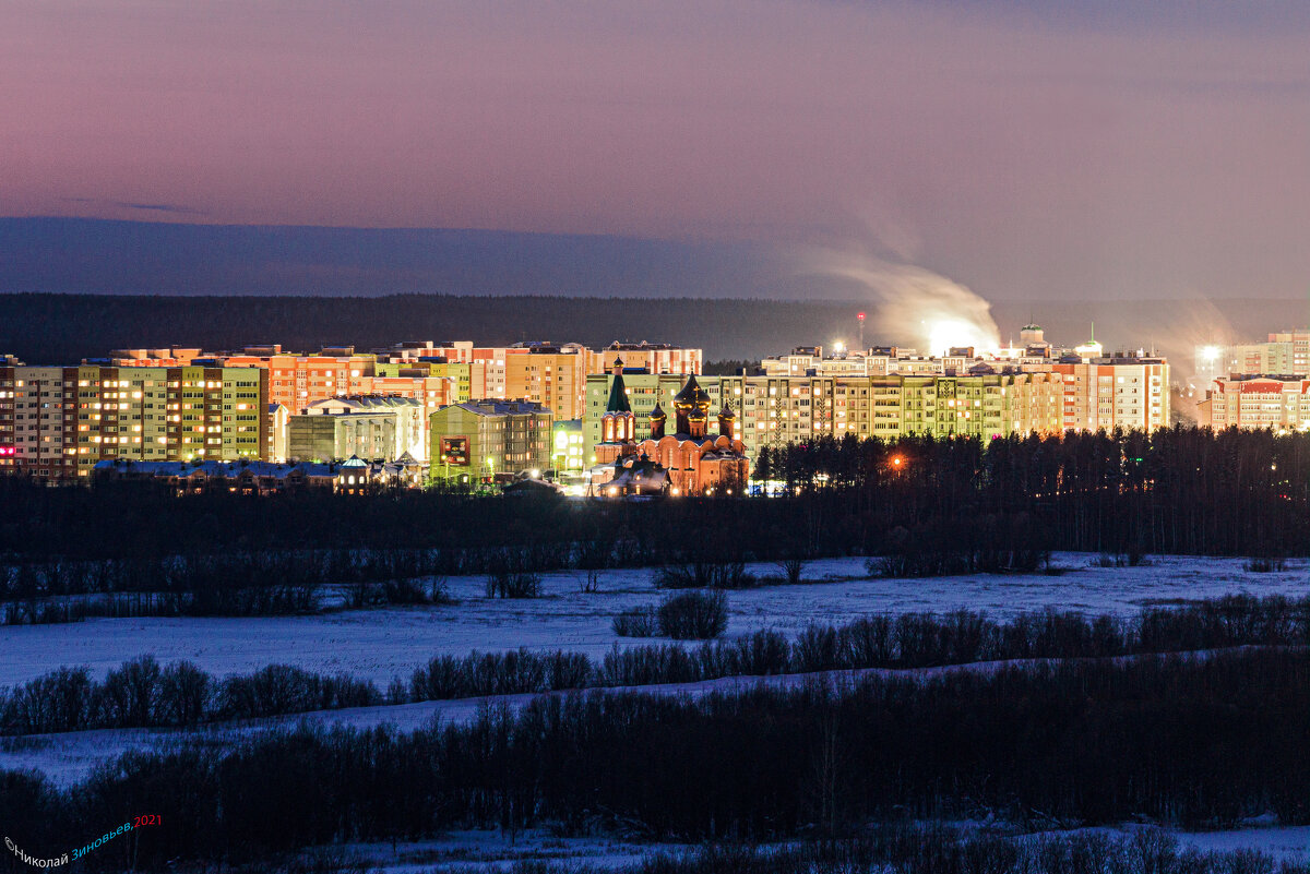
M1096 568L1094 556L1058 555L1060 576L972 574L931 580L870 578L862 559L814 561L806 567L812 585L765 586L728 594L728 636L758 628L787 635L811 623L842 624L871 614L950 611L960 607L1006 618L1022 611L1055 607L1085 612L1132 614L1149 603L1176 603L1229 593L1310 594L1303 561L1286 570L1251 573L1239 559L1153 557L1140 568ZM757 574L777 574L757 565ZM496 601L485 597L481 577L452 578L456 604L394 607L330 612L317 616L267 619L101 619L67 625L0 628L0 686L21 683L59 665L88 665L97 675L143 653L160 661L186 658L214 674L249 673L282 662L318 671L346 671L385 684L407 676L435 654L470 650L567 649L603 656L614 644L610 619L627 607L652 604L663 593L650 569L601 574L599 594L584 594L575 573L544 577L544 597ZM1204 657L1204 656L1199 656ZM909 671L927 676L945 670L994 670L996 665ZM897 671L834 671L831 680L853 674ZM814 679L814 678L810 678ZM756 683L793 684L802 676L726 678L705 683L646 687L647 693L697 696L732 691ZM590 693L605 693L595 691ZM519 707L533 696L498 699ZM0 768L33 768L68 785L98 764L127 750L166 750L189 743L225 746L252 734L300 722L372 726L390 724L410 730L431 724L473 718L485 700L428 701L397 707L358 708L265 720L248 725L204 726L198 730L101 730L30 738L0 738ZM1250 828L1179 833L1199 849L1251 848L1281 858L1310 862L1310 828ZM512 860L578 861L596 867L625 867L662 848L605 839L558 840L533 832L511 844L504 836L477 832L451 835L423 844L356 848L388 874L417 874L434 869L481 869ZM664 848L667 849L667 848Z

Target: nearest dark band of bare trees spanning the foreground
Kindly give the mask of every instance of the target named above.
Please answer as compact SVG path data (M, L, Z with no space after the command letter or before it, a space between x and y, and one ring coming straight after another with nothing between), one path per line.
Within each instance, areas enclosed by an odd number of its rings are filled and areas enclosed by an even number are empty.
M544 696L397 733L301 726L236 748L130 754L60 792L0 775L33 854L162 810L140 867L448 828L773 840L869 822L1310 822L1310 653L1244 650L757 687ZM312 803L307 799L313 799ZM124 866L128 847L88 865Z

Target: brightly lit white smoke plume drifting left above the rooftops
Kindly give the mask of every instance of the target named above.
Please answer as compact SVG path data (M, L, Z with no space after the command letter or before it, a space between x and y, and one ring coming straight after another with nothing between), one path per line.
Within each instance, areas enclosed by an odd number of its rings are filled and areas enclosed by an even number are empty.
M980 353L1001 348L992 305L930 270L834 250L811 253L804 267L806 273L841 277L867 289L876 304L875 338L901 345L909 340L920 353L931 355L952 345L972 345Z

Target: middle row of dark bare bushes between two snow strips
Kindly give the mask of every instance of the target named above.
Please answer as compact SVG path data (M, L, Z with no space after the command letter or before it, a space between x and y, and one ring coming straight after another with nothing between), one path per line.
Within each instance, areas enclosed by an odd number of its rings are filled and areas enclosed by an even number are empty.
M722 593L684 593L722 599ZM715 621L703 604L675 621ZM722 628L718 628L722 631ZM692 637L694 635L685 635ZM0 734L102 727L177 727L308 710L406 704L588 687L696 683L724 676L832 670L920 669L1009 659L1111 658L1237 646L1310 645L1310 598L1229 595L1186 607L1148 607L1132 619L1045 611L996 621L982 614L869 616L841 627L811 625L795 640L762 629L700 646L618 648L584 653L510 650L438 656L385 695L373 683L271 665L250 675L212 676L190 662L160 666L143 656L101 682L85 667L60 667L13 690L0 687Z

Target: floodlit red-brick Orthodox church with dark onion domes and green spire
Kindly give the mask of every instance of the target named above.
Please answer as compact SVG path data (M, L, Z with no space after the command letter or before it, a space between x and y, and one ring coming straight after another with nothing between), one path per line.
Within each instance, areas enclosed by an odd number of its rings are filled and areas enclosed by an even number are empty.
M614 381L600 425L601 442L595 449L597 466L592 468L592 484L596 493L717 495L745 488L751 462L736 436L736 413L731 406L723 404L717 416L718 433L710 432L710 395L696 382L694 374L673 395L672 406L672 432L668 415L656 402L650 413L650 437L638 440L624 385L624 362L621 358L614 361Z

